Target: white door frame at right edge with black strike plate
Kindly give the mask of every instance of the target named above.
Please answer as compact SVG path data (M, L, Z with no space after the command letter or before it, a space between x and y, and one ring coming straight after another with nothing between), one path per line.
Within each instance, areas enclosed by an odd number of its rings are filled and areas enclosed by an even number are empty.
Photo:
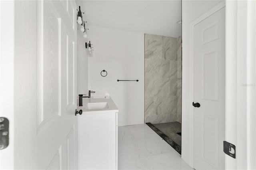
M256 169L256 2L226 2L226 140L236 159L225 169Z

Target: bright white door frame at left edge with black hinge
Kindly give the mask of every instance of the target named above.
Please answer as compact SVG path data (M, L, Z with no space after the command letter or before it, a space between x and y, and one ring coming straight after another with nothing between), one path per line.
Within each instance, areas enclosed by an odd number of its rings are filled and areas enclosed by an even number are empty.
M9 145L0 151L0 169L14 169L14 1L0 1L0 117L9 120ZM21 25L23 26L23 25ZM8 70L8 73L6 73ZM3 83L5 82L5 83ZM8 82L8 83L6 83Z

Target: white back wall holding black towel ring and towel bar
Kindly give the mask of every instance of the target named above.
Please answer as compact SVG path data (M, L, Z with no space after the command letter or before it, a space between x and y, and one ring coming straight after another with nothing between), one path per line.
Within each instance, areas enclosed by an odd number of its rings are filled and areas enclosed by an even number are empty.
M88 38L94 47L88 57L89 89L110 92L119 126L144 123L144 34L89 26Z

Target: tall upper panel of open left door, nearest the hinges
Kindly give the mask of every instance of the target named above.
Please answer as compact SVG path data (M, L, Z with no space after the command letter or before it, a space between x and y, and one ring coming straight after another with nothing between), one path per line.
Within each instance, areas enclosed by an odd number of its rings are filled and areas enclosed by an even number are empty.
M46 2L40 5L40 16L43 17L40 23L41 35L40 48L38 53L38 132L47 128L61 115L59 90L60 72L58 35L60 18L54 10L54 6Z

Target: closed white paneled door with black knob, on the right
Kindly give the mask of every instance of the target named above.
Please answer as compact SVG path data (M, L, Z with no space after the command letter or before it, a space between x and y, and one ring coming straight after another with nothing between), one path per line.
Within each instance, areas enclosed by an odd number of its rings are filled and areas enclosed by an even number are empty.
M224 169L225 8L194 26L194 103L194 168Z

